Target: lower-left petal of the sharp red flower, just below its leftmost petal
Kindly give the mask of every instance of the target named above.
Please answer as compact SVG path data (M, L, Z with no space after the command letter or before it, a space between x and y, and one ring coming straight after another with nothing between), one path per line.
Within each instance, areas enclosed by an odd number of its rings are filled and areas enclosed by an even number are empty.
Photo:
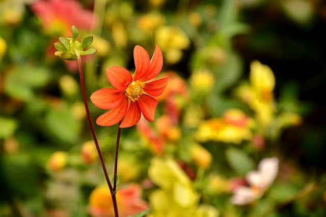
M105 112L101 116L96 119L96 123L99 126L112 126L118 123L124 115L126 114L128 109L128 98L125 97L123 102L117 107Z

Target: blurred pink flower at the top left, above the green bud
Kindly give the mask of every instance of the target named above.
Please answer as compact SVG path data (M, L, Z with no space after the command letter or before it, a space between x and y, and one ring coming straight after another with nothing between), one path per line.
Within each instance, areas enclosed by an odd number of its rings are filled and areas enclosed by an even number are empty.
M38 0L31 9L41 19L45 32L51 35L68 35L72 25L79 30L90 30L97 24L94 14L75 0Z

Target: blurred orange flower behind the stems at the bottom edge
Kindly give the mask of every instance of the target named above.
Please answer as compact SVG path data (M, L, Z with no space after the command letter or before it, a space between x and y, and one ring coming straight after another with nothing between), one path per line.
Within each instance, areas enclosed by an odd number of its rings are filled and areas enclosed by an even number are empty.
M128 187L117 192L119 215L126 217L146 210L149 206L141 198L141 188L137 184L129 184ZM94 217L114 216L114 209L110 190L106 186L99 186L90 195L89 213Z

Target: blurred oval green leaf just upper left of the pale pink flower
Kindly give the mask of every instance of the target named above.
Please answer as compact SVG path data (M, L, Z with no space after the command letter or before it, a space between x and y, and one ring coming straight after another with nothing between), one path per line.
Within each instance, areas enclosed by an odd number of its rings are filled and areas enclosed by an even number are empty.
M241 176L255 169L255 162L242 150L228 148L226 150L226 158L232 169Z

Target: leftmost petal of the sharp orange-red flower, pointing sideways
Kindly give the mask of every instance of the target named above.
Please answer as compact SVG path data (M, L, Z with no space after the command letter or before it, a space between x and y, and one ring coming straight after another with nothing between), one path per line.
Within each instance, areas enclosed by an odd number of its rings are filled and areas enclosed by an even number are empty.
M98 89L91 95L92 103L100 109L112 109L122 103L124 91L113 88Z

